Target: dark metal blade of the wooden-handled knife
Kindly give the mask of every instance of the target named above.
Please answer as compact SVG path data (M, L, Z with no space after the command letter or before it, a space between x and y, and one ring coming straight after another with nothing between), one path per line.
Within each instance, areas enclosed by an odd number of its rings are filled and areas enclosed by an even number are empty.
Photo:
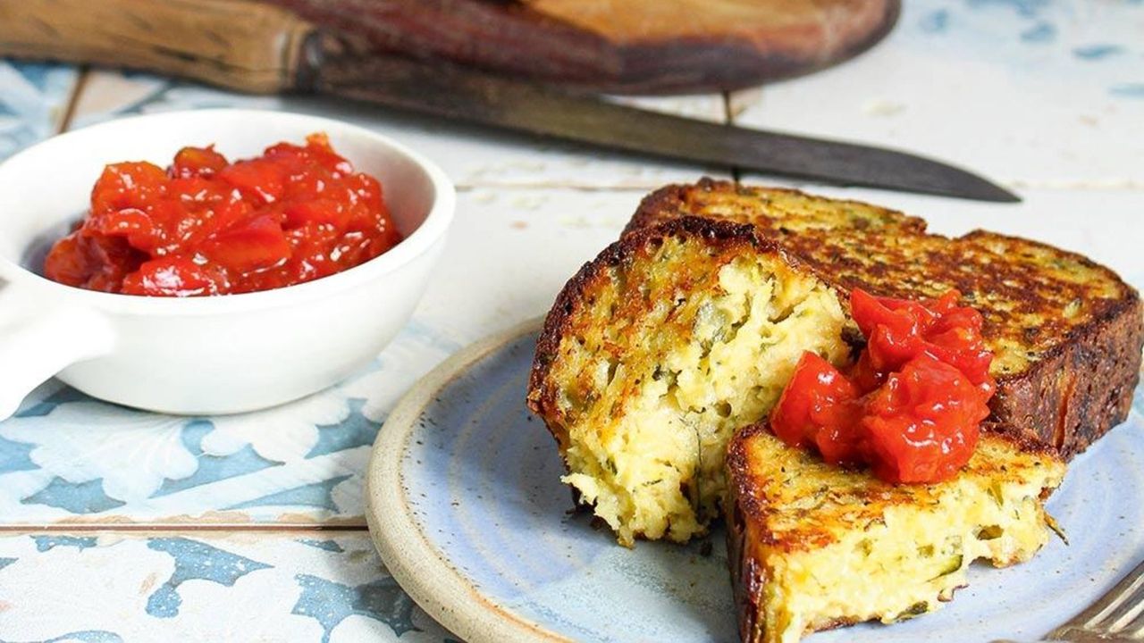
M626 152L984 201L1020 199L986 178L916 154L720 125L447 64L358 57L328 34L311 40L301 70L315 90L453 120Z

